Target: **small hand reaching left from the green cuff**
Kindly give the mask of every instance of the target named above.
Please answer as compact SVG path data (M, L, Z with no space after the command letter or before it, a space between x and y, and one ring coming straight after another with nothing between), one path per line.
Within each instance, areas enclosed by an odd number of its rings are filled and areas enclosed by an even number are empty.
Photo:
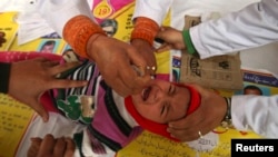
M161 27L156 38L165 41L165 43L157 49L157 52L162 52L169 49L186 49L182 32L171 27Z

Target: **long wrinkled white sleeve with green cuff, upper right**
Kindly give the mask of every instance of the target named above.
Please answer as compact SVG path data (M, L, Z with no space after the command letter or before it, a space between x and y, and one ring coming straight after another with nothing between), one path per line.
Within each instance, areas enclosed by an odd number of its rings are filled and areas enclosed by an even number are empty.
M203 22L190 29L190 37L202 59L278 41L278 1L261 0Z

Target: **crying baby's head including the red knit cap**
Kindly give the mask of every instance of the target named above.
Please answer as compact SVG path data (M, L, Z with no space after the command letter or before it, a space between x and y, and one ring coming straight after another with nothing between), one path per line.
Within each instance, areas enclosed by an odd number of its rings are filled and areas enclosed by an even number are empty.
M158 79L141 94L125 99L127 110L142 128L170 139L175 138L167 133L168 122L183 118L199 105L200 95L192 87Z

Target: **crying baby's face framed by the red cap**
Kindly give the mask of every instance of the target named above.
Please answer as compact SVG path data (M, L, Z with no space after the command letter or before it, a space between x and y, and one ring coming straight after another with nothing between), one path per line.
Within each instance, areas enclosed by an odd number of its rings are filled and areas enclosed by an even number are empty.
M167 124L186 116L190 92L186 87L157 79L141 94L133 95L132 101L142 117Z

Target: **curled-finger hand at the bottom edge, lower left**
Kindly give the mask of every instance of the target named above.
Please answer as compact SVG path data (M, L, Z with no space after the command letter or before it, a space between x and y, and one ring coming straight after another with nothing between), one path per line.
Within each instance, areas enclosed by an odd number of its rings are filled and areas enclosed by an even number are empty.
M75 141L60 137L54 139L52 135L46 135L43 139L32 138L27 151L28 157L73 157Z

